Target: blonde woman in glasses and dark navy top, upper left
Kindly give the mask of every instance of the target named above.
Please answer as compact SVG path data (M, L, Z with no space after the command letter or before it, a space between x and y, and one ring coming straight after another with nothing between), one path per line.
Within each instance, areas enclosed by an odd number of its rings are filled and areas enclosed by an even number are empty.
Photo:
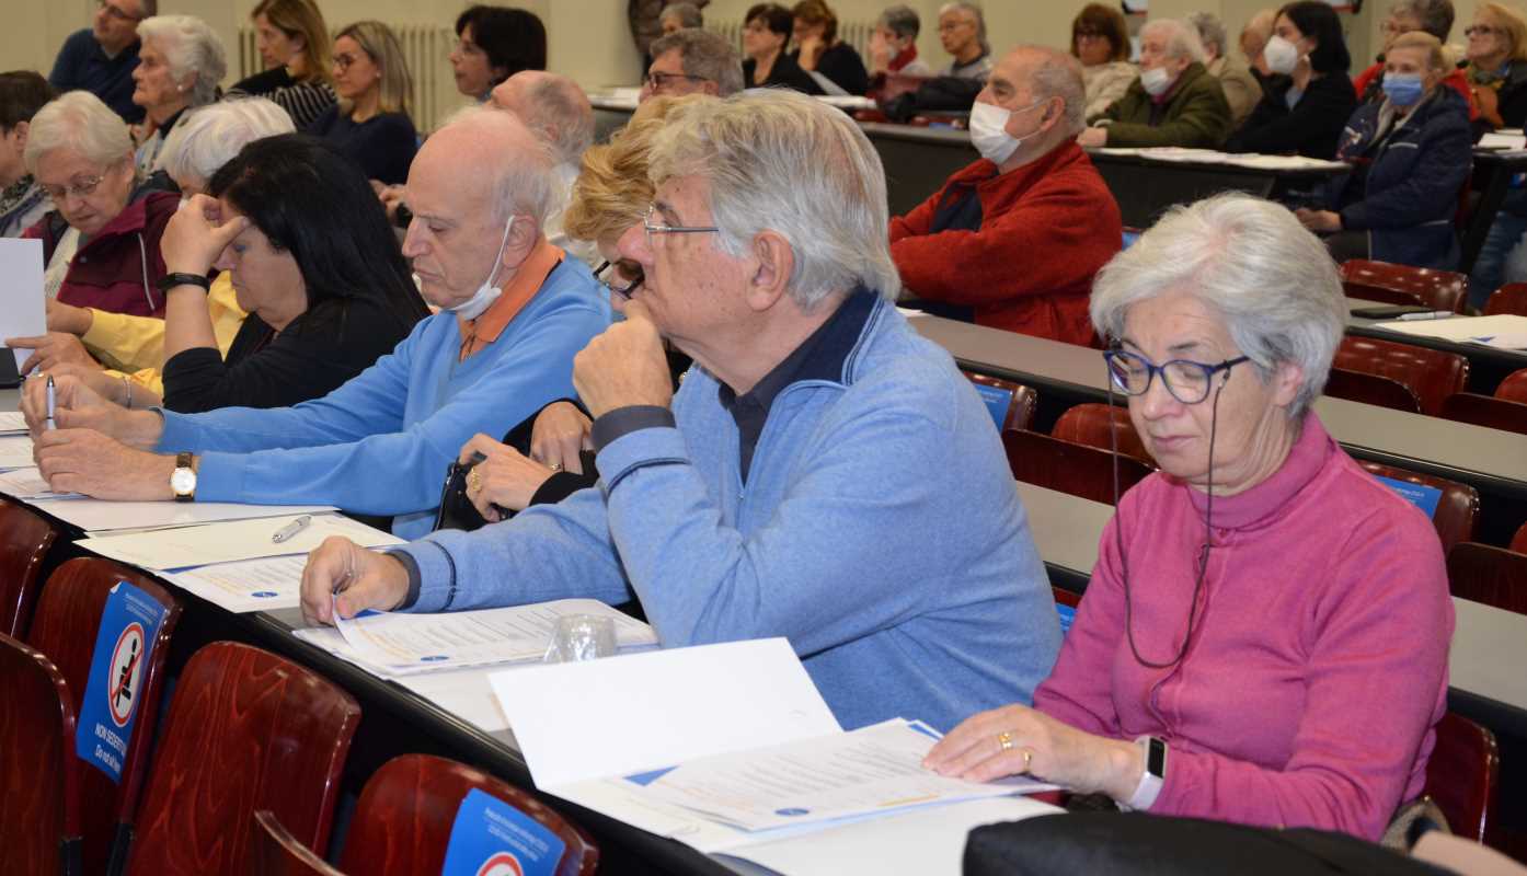
M397 35L380 21L356 21L334 37L334 92L307 133L324 137L368 179L399 185L418 150L409 118L414 79Z

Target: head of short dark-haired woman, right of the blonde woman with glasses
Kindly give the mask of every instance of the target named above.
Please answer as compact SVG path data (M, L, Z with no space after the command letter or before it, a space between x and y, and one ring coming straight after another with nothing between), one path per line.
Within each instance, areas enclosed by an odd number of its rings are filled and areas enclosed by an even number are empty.
M457 37L450 69L469 98L487 101L493 85L515 73L547 69L547 27L534 12L472 6L457 17Z

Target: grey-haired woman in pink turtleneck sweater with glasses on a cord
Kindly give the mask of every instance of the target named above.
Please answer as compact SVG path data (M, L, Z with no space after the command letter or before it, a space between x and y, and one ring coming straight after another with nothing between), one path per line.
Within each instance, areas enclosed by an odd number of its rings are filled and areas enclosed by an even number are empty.
M1425 783L1452 603L1429 520L1310 411L1335 266L1284 208L1219 195L1115 256L1092 320L1161 473L1104 530L1034 708L967 719L927 765L1379 838Z

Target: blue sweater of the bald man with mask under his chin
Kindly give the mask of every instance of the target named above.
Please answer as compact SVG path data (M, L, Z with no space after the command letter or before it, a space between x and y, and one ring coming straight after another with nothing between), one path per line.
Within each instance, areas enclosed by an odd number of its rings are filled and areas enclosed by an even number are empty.
M458 362L457 317L414 327L376 365L293 407L162 412L157 450L202 455L197 499L328 504L395 514L392 531L429 531L446 467L478 432L493 438L573 395L573 356L609 325L609 302L563 259L498 340Z

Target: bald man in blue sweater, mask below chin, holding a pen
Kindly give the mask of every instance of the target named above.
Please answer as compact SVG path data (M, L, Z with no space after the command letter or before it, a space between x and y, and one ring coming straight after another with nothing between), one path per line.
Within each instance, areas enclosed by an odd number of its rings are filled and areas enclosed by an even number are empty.
M550 156L519 119L469 110L429 137L408 176L403 255L441 313L293 407L128 411L61 378L60 429L35 433L43 476L101 499L333 504L394 514L395 534L423 536L461 446L571 395L574 354L609 325L588 267L541 230L553 185ZM34 421L41 389L24 403Z

